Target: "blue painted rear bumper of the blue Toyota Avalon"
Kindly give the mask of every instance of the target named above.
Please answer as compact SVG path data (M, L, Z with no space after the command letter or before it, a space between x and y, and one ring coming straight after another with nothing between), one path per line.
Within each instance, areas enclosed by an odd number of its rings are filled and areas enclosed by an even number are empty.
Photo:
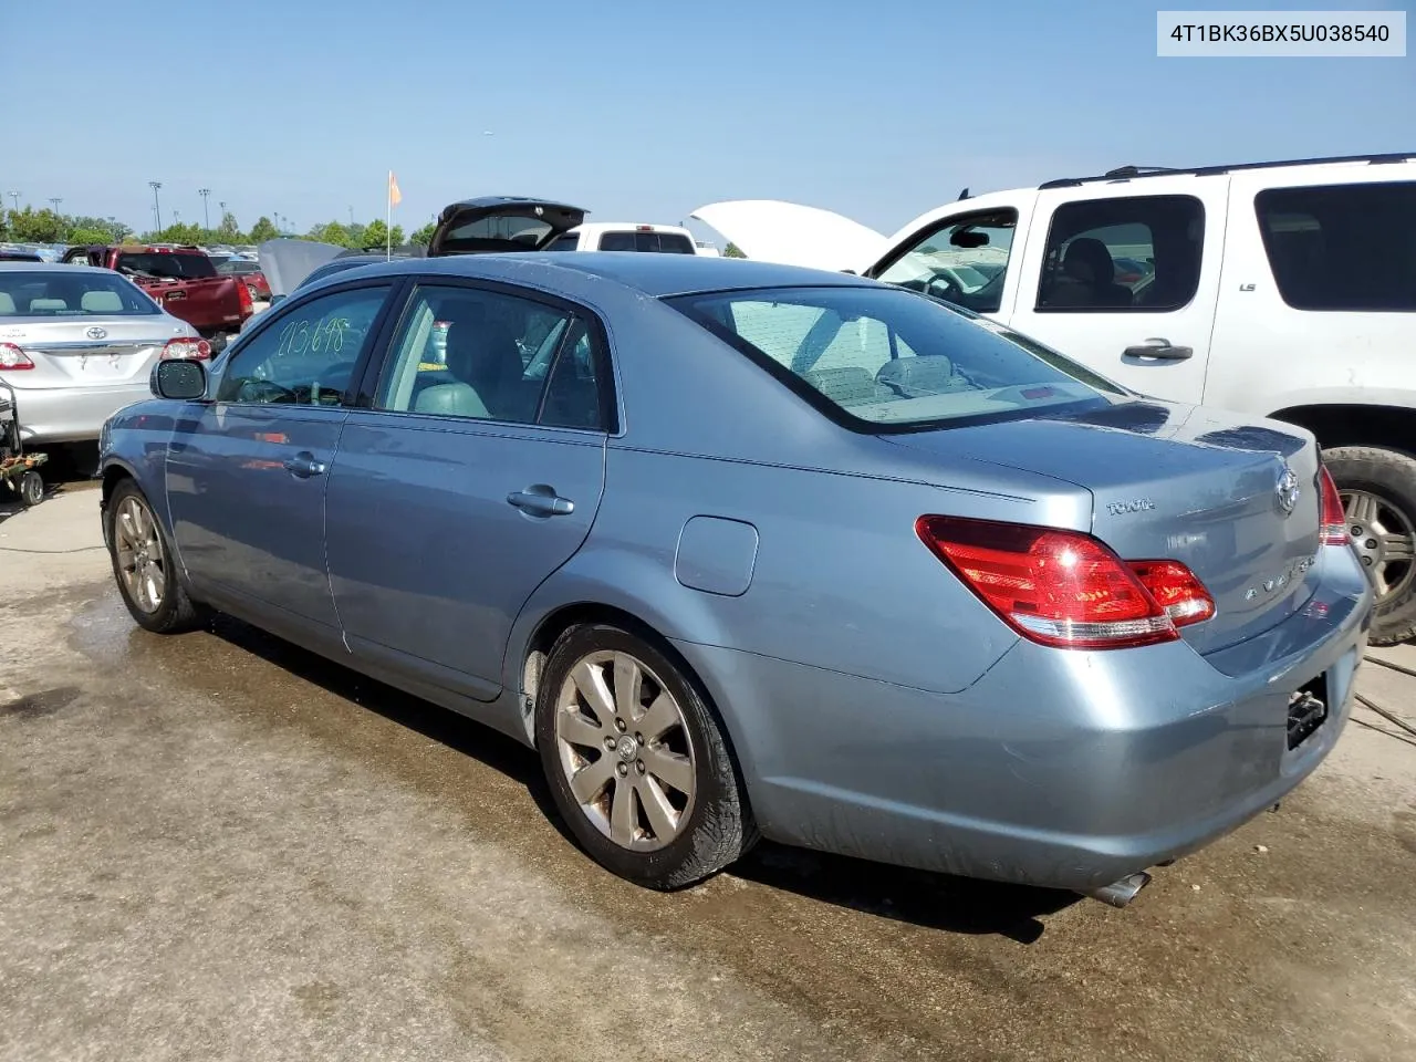
M1086 891L1178 858L1297 786L1347 722L1372 592L1328 549L1308 607L1214 658L1017 643L932 694L680 644L719 705L765 835L977 878ZM1328 716L1287 748L1289 697Z

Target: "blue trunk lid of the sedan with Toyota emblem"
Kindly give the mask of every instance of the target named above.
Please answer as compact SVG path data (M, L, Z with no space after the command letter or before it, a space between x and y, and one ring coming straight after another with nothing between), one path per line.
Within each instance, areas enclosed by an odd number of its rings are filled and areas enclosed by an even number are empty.
M1301 609L1315 588L1318 453L1301 429L1134 401L884 438L1087 489L1092 534L1129 561L1184 562L1214 596L1212 619L1181 627L1197 651L1267 630ZM1289 470L1293 481L1286 484ZM1291 486L1296 498L1284 490ZM1291 511L1283 501L1293 501Z

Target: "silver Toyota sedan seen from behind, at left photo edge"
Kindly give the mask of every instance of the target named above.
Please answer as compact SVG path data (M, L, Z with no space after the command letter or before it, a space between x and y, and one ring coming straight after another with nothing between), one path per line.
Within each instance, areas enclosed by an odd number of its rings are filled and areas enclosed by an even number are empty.
M0 381L25 446L89 442L115 411L152 398L161 358L211 346L110 269L0 262Z

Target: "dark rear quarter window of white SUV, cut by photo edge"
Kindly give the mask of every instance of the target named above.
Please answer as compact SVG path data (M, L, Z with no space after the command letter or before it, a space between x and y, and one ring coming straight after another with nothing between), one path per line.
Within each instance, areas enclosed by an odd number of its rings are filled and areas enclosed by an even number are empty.
M1416 310L1416 181L1267 188L1263 249L1296 310Z

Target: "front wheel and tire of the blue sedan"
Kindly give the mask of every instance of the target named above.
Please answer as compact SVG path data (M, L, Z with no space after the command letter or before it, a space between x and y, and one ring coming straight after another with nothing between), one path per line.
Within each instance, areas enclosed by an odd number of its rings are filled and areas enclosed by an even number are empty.
M113 489L103 520L118 592L137 626L154 634L201 627L207 610L187 595L167 532L133 480Z

